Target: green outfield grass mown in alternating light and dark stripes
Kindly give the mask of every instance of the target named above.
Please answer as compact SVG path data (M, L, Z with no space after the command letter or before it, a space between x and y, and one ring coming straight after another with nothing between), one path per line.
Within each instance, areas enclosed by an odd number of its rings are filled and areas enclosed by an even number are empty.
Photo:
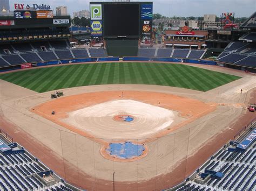
M113 62L36 68L2 74L0 79L42 93L78 86L124 83L208 91L240 77L180 64Z

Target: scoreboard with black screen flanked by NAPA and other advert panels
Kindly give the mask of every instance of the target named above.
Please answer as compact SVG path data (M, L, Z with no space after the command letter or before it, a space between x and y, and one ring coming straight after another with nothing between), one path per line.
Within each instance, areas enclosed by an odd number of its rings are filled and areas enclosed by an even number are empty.
M151 39L152 10L152 2L90 2L91 34Z

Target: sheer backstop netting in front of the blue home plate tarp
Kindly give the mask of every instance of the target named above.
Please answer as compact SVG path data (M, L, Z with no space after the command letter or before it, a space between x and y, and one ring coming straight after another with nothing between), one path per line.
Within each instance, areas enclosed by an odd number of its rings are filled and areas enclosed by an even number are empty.
M129 140L59 133L64 178L80 188L159 190L186 177L190 129L159 138Z

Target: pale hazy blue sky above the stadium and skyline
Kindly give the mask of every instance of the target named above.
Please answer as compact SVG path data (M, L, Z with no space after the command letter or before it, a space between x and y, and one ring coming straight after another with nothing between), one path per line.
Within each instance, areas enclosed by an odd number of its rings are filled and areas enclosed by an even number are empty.
M1 1L1 0L0 0ZM14 10L15 3L46 4L51 9L56 6L68 6L68 13L82 9L89 10L90 2L103 2L96 0L9 0L10 9ZM149 0L148 0L149 1ZM107 1L105 1L107 2ZM131 1L134 2L134 1ZM137 1L135 1L137 2ZM140 0L139 2L147 2ZM194 16L203 17L204 14L213 14L218 17L222 12L234 12L235 17L250 17L256 10L255 0L153 0L153 13L160 13L166 17Z

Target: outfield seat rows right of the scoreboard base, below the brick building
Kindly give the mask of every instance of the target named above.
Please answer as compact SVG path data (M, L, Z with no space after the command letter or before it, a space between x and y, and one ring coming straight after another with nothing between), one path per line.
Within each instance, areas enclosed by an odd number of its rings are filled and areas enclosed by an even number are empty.
M139 48L138 56L160 57L160 58L188 58L200 59L204 54L203 50L194 49L172 49L172 48Z

